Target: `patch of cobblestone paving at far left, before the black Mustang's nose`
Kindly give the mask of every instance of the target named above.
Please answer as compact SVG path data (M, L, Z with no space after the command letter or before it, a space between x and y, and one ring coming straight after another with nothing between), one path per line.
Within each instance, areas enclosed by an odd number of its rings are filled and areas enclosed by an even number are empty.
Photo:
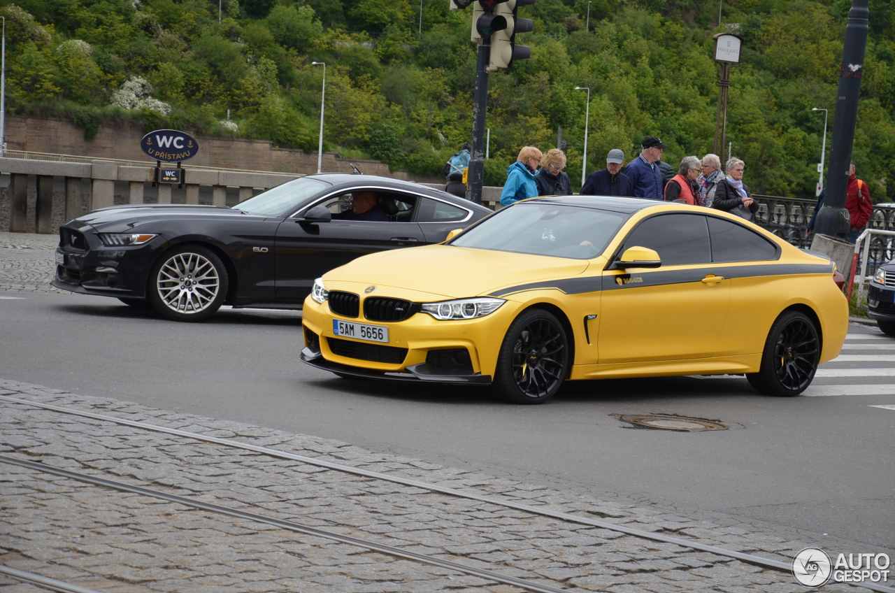
M58 235L0 233L0 291L71 294L50 286L56 245Z

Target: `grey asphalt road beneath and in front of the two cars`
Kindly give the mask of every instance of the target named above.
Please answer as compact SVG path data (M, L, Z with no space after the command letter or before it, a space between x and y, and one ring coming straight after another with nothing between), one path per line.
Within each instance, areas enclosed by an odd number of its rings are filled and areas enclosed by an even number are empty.
M895 550L895 389L849 394L895 383L871 376L895 369L895 339L875 328L852 324L852 334L879 339L852 335L866 348L843 352L874 361L822 369L884 370L812 387L842 395L778 399L745 379L674 377L574 383L546 405L523 407L481 387L338 379L298 361L300 327L294 312L226 309L192 324L105 297L0 293L0 377ZM633 413L719 420L730 430L618 420Z

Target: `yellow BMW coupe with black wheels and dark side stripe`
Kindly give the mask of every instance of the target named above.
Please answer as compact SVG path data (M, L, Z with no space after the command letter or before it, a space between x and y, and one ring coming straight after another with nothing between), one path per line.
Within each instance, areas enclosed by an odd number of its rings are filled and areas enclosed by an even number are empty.
M343 377L492 384L525 404L567 380L678 374L798 395L845 340L834 274L724 212L534 198L443 244L328 271L304 303L301 359Z

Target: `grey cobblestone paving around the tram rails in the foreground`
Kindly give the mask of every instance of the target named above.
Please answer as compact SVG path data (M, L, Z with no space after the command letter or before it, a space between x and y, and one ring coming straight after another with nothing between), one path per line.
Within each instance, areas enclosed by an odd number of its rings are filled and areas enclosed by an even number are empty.
M789 562L807 543L661 509L444 468L348 443L0 380L0 395L86 409L475 489ZM0 398L0 453L293 520L570 591L804 590L726 557ZM101 591L504 591L459 572L0 464L0 564ZM0 579L0 592L37 590ZM864 589L828 586L831 591Z

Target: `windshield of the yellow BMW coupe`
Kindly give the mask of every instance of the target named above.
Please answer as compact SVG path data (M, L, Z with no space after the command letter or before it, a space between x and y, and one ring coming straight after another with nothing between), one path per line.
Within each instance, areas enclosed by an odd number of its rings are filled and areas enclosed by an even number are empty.
M515 204L456 237L450 245L589 260L628 219L621 212L531 202Z

